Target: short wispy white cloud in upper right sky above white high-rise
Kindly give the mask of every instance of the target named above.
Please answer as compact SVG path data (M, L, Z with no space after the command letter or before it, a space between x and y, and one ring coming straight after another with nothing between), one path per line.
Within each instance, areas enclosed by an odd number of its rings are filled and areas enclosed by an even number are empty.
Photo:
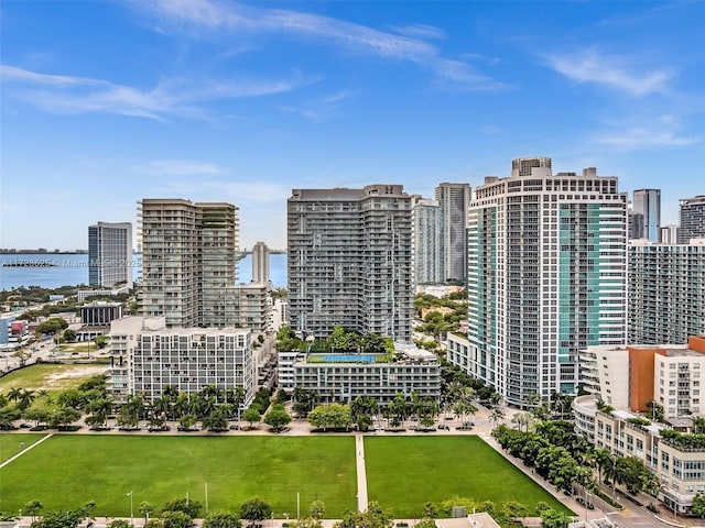
M631 96L665 94L673 74L665 69L634 72L627 57L607 56L597 46L577 53L545 55L546 65L577 82L607 86Z

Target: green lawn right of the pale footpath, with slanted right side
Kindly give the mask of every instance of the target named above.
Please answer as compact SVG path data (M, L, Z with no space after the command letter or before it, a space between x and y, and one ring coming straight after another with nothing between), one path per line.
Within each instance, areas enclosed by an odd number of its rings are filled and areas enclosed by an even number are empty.
M368 499L397 518L419 518L425 503L456 495L497 507L517 501L533 508L543 501L568 512L476 436L367 437L365 458Z

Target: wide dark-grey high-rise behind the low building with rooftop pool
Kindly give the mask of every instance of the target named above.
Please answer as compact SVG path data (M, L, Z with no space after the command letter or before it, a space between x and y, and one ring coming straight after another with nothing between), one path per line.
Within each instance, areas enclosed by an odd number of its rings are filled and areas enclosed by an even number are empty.
M290 324L411 340L411 196L401 185L293 189L288 200Z

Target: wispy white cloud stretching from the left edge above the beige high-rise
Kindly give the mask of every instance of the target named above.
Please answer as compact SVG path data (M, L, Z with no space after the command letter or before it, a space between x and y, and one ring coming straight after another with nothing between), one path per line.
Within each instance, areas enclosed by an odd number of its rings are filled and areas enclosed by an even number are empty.
M113 113L150 119L175 114L204 117L199 105L215 99L260 97L295 90L315 82L294 74L289 79L261 80L191 80L162 81L153 88L140 89L101 79L48 75L15 66L0 66L3 82L30 86L18 97L56 113Z

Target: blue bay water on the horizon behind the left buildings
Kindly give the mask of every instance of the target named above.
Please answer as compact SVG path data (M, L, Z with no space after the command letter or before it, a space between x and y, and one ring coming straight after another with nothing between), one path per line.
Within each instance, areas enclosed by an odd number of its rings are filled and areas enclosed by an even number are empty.
M139 261L140 255L135 255ZM24 263L24 266L3 266L3 263ZM286 255L270 255L270 277L276 288L286 287ZM135 266L133 276L141 276ZM249 283L252 278L252 255L238 262L238 282ZM0 255L0 289L20 286L57 288L88 284L88 255L59 255L51 253L15 253Z

